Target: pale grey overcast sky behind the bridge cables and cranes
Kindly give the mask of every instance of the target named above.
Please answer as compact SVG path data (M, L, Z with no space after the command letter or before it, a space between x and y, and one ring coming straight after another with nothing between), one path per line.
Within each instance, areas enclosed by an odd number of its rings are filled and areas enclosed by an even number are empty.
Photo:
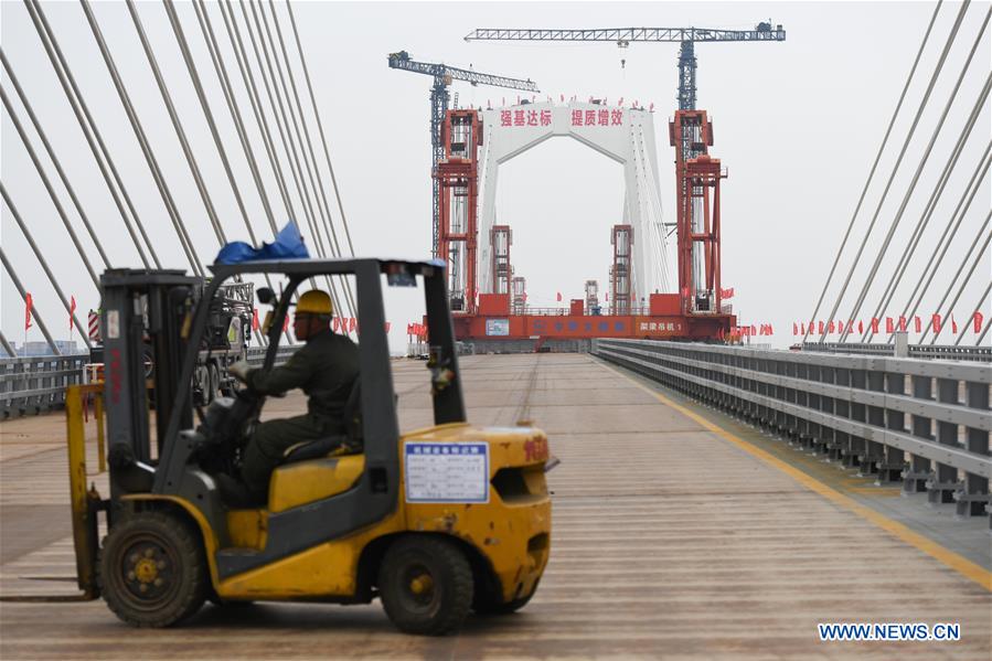
M653 103L663 213L671 222L674 221L674 151L668 145L665 124L675 107L678 44L631 44L620 50L609 43L467 43L462 38L470 30L482 26L750 29L768 18L774 23L781 23L788 34L782 43L696 46L697 107L710 111L715 135L711 153L729 171L722 188L723 280L726 287L735 289L730 302L743 322L774 324L776 335L771 342L776 345L794 341L792 322L812 313L934 7L930 2L294 3L355 250L362 255L408 257L426 257L430 250L428 97L431 81L427 76L390 70L387 53L407 50L417 60L471 65L480 72L531 78L541 87L540 98L551 95L557 99L564 94L579 98L605 97L610 104L620 97L625 104L639 100L647 106ZM45 2L43 8L160 258L164 265L188 268L79 4ZM247 238L167 13L159 2L141 2L138 9L224 230L228 238ZM253 226L259 236L270 238L258 193L253 190L244 151L238 146L192 6L182 3L177 9L221 125L222 140L233 160ZM835 285L828 296L830 303L836 298L840 280L854 262L855 250L875 212L959 9L959 3L945 3L940 9L875 183L858 215L853 245L845 252L834 277ZM841 317L846 318L852 311L865 274L904 201L988 10L988 2L973 2L964 17L916 137L909 143L904 163L878 214L876 238L868 243L857 262L852 289L838 312ZM113 265L138 266L137 253L28 11L22 3L12 1L2 2L0 11L3 52ZM127 8L122 2L99 2L94 6L94 11L200 256L204 262L211 262L217 241L206 222L203 202L183 160ZM242 20L239 10L237 13ZM277 13L282 30L289 31L285 6L278 6ZM210 15L214 30L220 31L217 35L225 62L228 67L234 67L233 52L216 6L210 7ZM861 318L870 317L874 310L909 233L938 183L964 120L989 76L989 54L990 33L986 29L920 173L916 192L906 200L902 224L884 255ZM626 66L621 66L621 58L626 60ZM296 71L297 81L302 84L302 74L298 67ZM239 76L234 77L236 95L254 140L253 148L260 154L262 140L252 119L247 96ZM30 126L6 74L3 89L13 99L21 121ZM497 105L504 98L506 102L516 98L514 90L466 84L455 84L452 92L458 94L461 106L484 106L489 102ZM924 274L925 265L931 260L937 238L951 221L951 213L986 149L990 125L992 118L986 99L920 247L907 268L895 302L883 314L897 316L902 311L910 290ZM310 126L312 130L316 125L311 121ZM29 128L29 135L35 149L43 154L33 129ZM54 169L46 157L42 156L42 159L46 172L56 182L56 190L83 238L87 255L102 268L78 215L56 181ZM538 306L551 305L557 291L562 291L566 299L580 297L583 284L588 278L599 279L605 289L611 258L609 227L619 222L622 211L621 166L576 141L562 138L529 151L501 170L500 220L513 227L512 262L516 274L527 279L530 301ZM277 200L267 167L264 177L270 189L269 196ZM2 181L66 296L75 295L85 323L86 310L98 305L96 289L6 110ZM920 312L936 311L937 302L964 260L990 205L986 175ZM334 215L337 218L337 212ZM280 224L288 217L281 204L277 205L276 216ZM6 205L2 247L32 292L53 334L66 339L66 314ZM963 324L974 310L990 277L986 249L975 277L953 308L959 323ZM2 274L0 294L3 297L2 330L9 340L20 343L23 340L23 305L6 273ZM982 306L988 317L988 298ZM825 318L828 311L822 311L820 317ZM388 312L394 323L394 340L403 339L403 329L408 321L415 320L415 314L412 303ZM949 338L945 334L941 340ZM29 339L41 340L41 333L32 329ZM992 338L986 337L986 342L990 341ZM966 343L973 343L973 340L966 339Z

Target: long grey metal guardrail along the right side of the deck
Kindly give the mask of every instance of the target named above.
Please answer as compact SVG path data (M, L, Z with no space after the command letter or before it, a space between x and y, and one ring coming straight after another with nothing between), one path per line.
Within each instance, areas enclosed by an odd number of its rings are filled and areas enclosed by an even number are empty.
M992 503L990 365L651 340L591 353L959 516Z

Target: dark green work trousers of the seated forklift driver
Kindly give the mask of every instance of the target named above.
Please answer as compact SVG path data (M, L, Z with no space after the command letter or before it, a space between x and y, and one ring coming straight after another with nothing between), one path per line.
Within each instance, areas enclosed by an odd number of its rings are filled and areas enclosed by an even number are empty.
M282 462L282 454L290 447L327 436L341 434L340 420L311 413L260 423L248 439L242 462L242 479L252 495L268 500L268 481L273 470Z

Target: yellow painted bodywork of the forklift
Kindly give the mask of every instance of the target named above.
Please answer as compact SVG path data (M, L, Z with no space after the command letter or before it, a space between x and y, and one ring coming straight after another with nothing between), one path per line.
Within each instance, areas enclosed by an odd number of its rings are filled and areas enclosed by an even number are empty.
M401 533L434 533L459 540L471 550L477 566L490 573L504 601L530 595L547 564L551 499L545 482L547 438L531 427L479 428L450 424L404 435L406 443L486 443L489 446L489 502L409 503L399 486L395 511L351 535L329 540L267 565L218 579L215 554L220 535L192 503L178 497L127 495L125 500L167 500L181 505L203 535L211 577L227 600L342 600L360 588L360 562L377 542ZM405 475L404 470L401 475ZM364 469L364 456L329 456L277 468L267 509L232 510L227 539L234 546L263 548L270 542L270 513L306 507L350 489Z

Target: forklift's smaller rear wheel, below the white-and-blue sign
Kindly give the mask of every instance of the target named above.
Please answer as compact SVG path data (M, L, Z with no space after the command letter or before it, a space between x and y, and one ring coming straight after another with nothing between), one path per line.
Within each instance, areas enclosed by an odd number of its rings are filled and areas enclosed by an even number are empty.
M472 568L452 542L409 535L386 552L378 572L378 591L397 629L444 636L461 626L472 606Z

